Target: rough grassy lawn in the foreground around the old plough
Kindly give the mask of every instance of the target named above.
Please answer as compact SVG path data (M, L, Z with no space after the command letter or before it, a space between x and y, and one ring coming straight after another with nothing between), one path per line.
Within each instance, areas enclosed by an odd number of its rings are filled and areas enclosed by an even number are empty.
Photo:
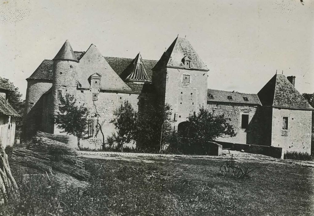
M244 180L220 176L222 160L85 160L92 173L90 185L62 191L61 185L45 178L22 183L22 171L11 166L21 185L22 202L0 206L3 214L13 214L23 205L31 215L51 215L61 203L62 215L313 215L310 167L241 163L257 168Z

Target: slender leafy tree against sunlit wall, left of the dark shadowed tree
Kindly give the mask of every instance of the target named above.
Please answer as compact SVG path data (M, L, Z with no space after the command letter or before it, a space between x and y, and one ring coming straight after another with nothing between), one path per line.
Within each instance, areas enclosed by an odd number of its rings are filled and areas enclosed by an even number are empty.
M132 105L126 100L113 112L113 115L115 118L110 123L113 123L117 130L115 138L118 142L117 147L123 151L124 143L129 143L133 140L137 112L134 111Z

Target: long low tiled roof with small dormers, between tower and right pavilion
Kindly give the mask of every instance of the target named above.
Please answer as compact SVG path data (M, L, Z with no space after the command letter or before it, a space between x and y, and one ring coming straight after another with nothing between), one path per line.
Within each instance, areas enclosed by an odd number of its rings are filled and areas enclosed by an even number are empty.
M207 90L207 101L261 105L257 94L228 92L216 89Z

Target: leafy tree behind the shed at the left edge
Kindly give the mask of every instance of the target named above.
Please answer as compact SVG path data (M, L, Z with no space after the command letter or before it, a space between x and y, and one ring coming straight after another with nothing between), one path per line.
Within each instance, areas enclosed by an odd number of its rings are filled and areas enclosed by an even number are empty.
M16 118L16 131L22 129L23 126L23 115L24 115L24 106L25 101L22 100L22 94L19 92L19 88L15 87L11 82L12 91L8 93L8 102L9 104L19 113L21 117Z

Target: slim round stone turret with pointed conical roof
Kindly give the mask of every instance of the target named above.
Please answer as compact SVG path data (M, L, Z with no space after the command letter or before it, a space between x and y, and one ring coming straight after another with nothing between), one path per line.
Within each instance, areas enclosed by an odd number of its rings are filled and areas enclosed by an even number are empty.
M68 40L65 41L57 55L53 58L52 79L52 114L58 112L61 96L75 95L78 85L78 59Z

